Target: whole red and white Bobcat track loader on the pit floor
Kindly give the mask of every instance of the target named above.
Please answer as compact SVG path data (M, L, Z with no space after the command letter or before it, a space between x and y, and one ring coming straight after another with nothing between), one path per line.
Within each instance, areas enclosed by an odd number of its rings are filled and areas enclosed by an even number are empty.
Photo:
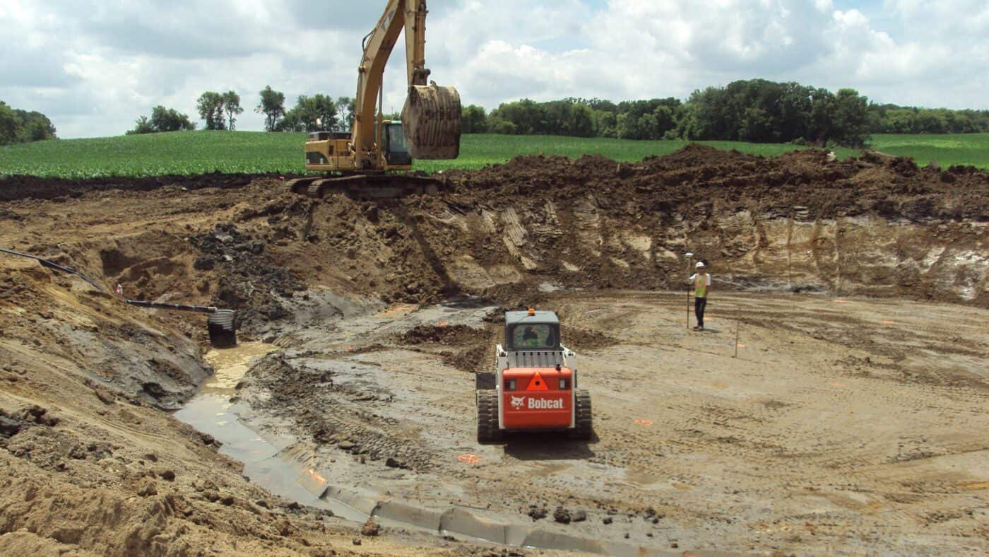
M540 430L590 438L590 394L578 389L577 354L560 343L555 313L505 312L494 351L494 372L477 374L478 441Z

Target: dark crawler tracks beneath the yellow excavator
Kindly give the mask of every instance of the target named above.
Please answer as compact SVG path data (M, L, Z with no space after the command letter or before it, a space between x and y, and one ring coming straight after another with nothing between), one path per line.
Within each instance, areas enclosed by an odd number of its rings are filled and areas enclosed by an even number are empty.
M288 188L314 199L342 193L354 199L392 199L408 195L433 195L447 186L446 181L427 176L402 174L354 174L349 176L296 178Z

